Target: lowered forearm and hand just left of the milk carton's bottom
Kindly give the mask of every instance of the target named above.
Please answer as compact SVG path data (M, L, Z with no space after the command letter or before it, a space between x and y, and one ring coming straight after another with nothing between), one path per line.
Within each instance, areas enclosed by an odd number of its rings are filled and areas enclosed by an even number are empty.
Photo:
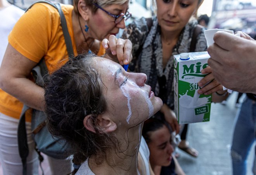
M171 129L178 134L180 132L180 126L176 119L175 113L166 104L160 110L164 114L164 119L170 124Z

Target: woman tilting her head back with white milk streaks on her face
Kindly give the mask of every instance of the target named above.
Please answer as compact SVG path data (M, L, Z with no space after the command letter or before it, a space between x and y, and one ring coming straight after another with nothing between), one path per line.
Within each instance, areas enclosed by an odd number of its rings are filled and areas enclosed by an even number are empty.
M78 174L139 173L142 124L163 104L146 80L93 54L69 60L50 76L49 130L71 143L76 165L85 162Z

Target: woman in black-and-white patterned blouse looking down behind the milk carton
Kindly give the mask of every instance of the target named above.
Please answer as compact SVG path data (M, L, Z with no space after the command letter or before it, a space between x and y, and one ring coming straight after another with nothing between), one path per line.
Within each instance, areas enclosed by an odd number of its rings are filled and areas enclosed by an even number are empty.
M126 27L122 36L133 43L133 62L129 65L130 71L145 73L147 84L152 87L155 95L163 100L164 105L155 117L164 117L176 133L179 132L179 126L173 112L173 55L190 51L190 42L197 26L197 21L190 19L202 1L154 0L157 15L152 17L152 23L145 18L135 20ZM202 28L196 38L195 52L207 49L204 30ZM204 73L209 75L199 82L201 87L214 79L210 67L205 68ZM217 91L223 96L215 95L214 92ZM199 93L214 93L213 102L220 102L227 97L222 85L216 80L199 90ZM195 149L189 148L186 140L182 140L179 148L185 149L192 156L198 154Z

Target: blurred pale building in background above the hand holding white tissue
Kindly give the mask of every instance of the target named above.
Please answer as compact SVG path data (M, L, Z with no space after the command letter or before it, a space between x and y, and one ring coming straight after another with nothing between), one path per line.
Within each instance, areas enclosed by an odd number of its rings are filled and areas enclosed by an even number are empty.
M208 28L243 31L256 37L256 0L214 0Z

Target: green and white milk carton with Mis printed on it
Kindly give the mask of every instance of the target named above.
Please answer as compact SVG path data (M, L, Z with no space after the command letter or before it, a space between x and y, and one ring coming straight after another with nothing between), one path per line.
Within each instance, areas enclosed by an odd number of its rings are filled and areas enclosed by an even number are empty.
M197 93L209 58L207 52L174 55L174 105L179 124L210 121L211 95Z

